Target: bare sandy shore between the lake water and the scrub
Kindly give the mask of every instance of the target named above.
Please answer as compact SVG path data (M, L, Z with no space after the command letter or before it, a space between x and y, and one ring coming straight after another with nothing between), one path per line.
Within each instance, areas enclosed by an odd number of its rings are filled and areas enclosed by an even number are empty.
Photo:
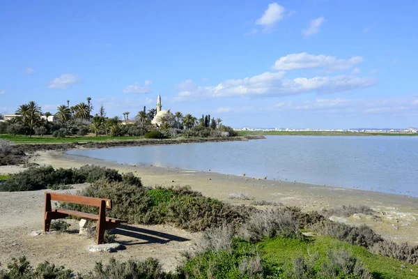
M119 172L132 172L139 176L144 186L189 186L202 195L231 204L249 205L253 201L268 201L297 206L303 211L320 211L340 206L364 204L377 213L376 216L355 214L349 218L333 217L334 220L350 225L366 224L387 239L395 242L417 244L418 198L405 195L379 193L367 190L318 186L289 181L252 179L248 176L219 174L153 165L121 165L84 156L65 154L65 151L38 151L30 160L39 165L54 168L81 167L86 164L102 165ZM0 167L0 173L22 170L22 167ZM231 193L243 193L251 200L229 199Z

